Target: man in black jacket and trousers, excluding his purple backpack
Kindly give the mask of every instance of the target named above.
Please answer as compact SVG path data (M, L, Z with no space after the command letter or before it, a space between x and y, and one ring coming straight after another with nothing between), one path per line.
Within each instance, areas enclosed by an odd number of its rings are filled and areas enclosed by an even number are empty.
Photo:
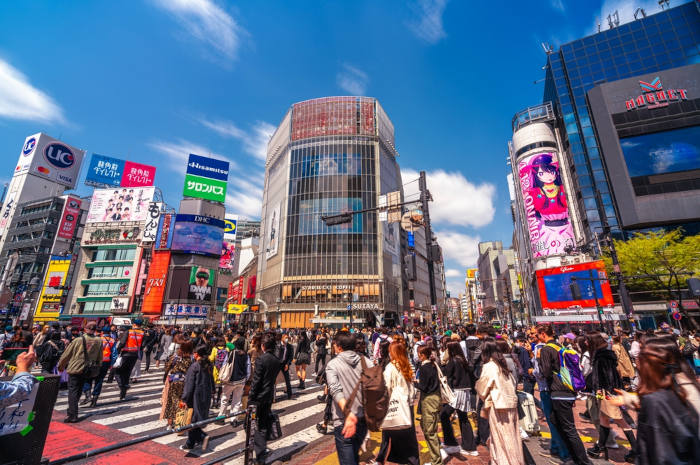
M551 325L538 325L537 337L540 342L545 344L539 351L538 365L552 398L552 424L557 429L562 441L564 441L566 449L571 454L570 458L573 463L576 465L591 465L574 422L573 408L576 401L576 392L566 386L560 376L562 373L560 363L562 348L554 342L554 330Z

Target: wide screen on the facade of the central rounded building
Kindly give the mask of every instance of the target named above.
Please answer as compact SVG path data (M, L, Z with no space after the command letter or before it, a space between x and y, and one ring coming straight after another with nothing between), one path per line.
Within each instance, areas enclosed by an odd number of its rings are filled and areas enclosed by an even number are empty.
M362 215L353 215L352 222L326 226L322 216L362 210L362 199L328 197L299 202L299 235L354 234L362 232Z

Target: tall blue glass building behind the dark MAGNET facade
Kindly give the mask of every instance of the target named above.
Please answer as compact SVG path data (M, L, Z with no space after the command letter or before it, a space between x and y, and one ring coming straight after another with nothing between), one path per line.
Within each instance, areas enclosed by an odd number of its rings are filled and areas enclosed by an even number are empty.
M695 2L642 16L564 44L547 58L543 101L552 102L559 119L564 149L578 184L576 205L588 239L602 230L601 213L614 233L619 234L622 227L588 91L605 83L700 63L700 11Z

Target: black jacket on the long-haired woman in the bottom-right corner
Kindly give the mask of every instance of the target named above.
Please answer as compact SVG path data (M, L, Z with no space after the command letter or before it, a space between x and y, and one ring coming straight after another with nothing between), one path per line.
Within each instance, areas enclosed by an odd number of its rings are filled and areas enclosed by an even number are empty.
M698 415L671 390L641 396L637 465L690 465L700 461Z

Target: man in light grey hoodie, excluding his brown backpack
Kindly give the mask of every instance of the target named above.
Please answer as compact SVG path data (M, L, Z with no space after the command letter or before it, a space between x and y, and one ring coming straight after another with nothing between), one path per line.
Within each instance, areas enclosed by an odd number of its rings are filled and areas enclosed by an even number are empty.
M333 434L340 465L358 465L360 446L367 435L363 390L360 387L362 365L371 361L355 352L355 337L338 331L333 337L336 352L326 365L328 393L333 398Z

